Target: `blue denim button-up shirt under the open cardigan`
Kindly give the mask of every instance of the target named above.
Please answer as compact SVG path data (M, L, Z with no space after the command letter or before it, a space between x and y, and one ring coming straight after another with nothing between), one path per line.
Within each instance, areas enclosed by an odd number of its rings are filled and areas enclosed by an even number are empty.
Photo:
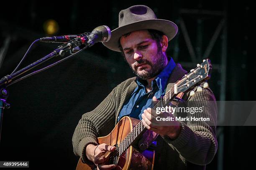
M136 82L138 86L131 94L131 98L126 100L124 103L123 108L121 109L118 116L118 121L123 116L129 116L141 120L141 114L143 113L143 110L151 107L153 96L156 96L156 98L159 99L161 95L165 94L168 78L170 77L175 66L176 64L171 58L164 70L162 70L159 75L157 75L156 78L152 81L152 92L154 95L151 94L149 96L150 92L146 92L146 80L137 78Z

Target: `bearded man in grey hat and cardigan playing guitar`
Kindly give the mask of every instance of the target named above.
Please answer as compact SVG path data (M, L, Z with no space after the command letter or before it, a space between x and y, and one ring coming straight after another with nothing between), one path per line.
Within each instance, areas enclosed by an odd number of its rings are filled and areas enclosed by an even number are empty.
M179 121L169 126L152 123L149 108L152 100L157 101L186 73L166 55L168 41L177 31L177 25L156 19L147 6L135 5L120 11L119 28L103 44L122 52L137 77L120 83L95 110L82 115L72 142L74 153L85 163L95 163L99 169L115 168L115 165L104 165L101 156L115 147L98 145L97 137L108 135L123 116L140 119L148 130L159 134L154 169L205 169L211 162L218 147L215 126L205 122L196 126ZM187 92L182 99L210 101L215 97L206 88L192 97ZM216 112L205 109L204 114L210 114L216 124Z

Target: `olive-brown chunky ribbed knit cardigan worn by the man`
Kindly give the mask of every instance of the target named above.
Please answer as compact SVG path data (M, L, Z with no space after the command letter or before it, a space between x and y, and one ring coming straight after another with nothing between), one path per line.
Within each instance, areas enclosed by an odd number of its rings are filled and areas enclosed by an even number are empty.
M166 92L170 90L184 74L181 65L172 71L169 77ZM108 135L117 124L118 115L126 100L137 87L136 77L129 78L115 87L110 94L91 112L84 113L74 131L72 144L75 155L82 158L85 163L92 163L86 157L86 146L97 145L97 138ZM202 84L201 84L202 86ZM196 90L195 87L192 90ZM202 92L195 92L192 97L189 91L184 93L183 100L187 101L215 101L210 88L203 88ZM211 125L217 124L216 105L205 107L202 117L211 117ZM196 107L196 106L194 106ZM175 140L167 136L160 136L157 140L154 169L204 170L217 151L216 127L206 122L190 125L181 122L181 131Z

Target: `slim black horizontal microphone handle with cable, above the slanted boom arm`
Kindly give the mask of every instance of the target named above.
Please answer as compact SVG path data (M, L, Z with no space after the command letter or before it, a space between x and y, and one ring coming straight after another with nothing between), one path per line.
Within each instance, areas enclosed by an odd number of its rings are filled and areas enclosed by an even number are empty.
M90 32L85 32L79 35L60 35L60 36L54 36L54 37L42 37L40 38L41 42L69 42L70 40L73 40L76 37L84 37L88 36Z

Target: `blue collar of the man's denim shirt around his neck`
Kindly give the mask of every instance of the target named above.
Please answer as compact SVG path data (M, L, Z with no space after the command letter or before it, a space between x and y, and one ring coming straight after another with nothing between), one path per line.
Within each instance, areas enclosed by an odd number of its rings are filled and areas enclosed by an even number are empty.
M176 64L171 57L168 64L166 65L166 67L164 67L164 69L159 73L159 75L156 76L155 80L152 81L152 87L154 88L154 84L156 83L159 90L163 94L164 89L167 84L167 81L168 81L174 67L176 67ZM137 82L138 86L145 88L146 80L137 78L136 82Z

